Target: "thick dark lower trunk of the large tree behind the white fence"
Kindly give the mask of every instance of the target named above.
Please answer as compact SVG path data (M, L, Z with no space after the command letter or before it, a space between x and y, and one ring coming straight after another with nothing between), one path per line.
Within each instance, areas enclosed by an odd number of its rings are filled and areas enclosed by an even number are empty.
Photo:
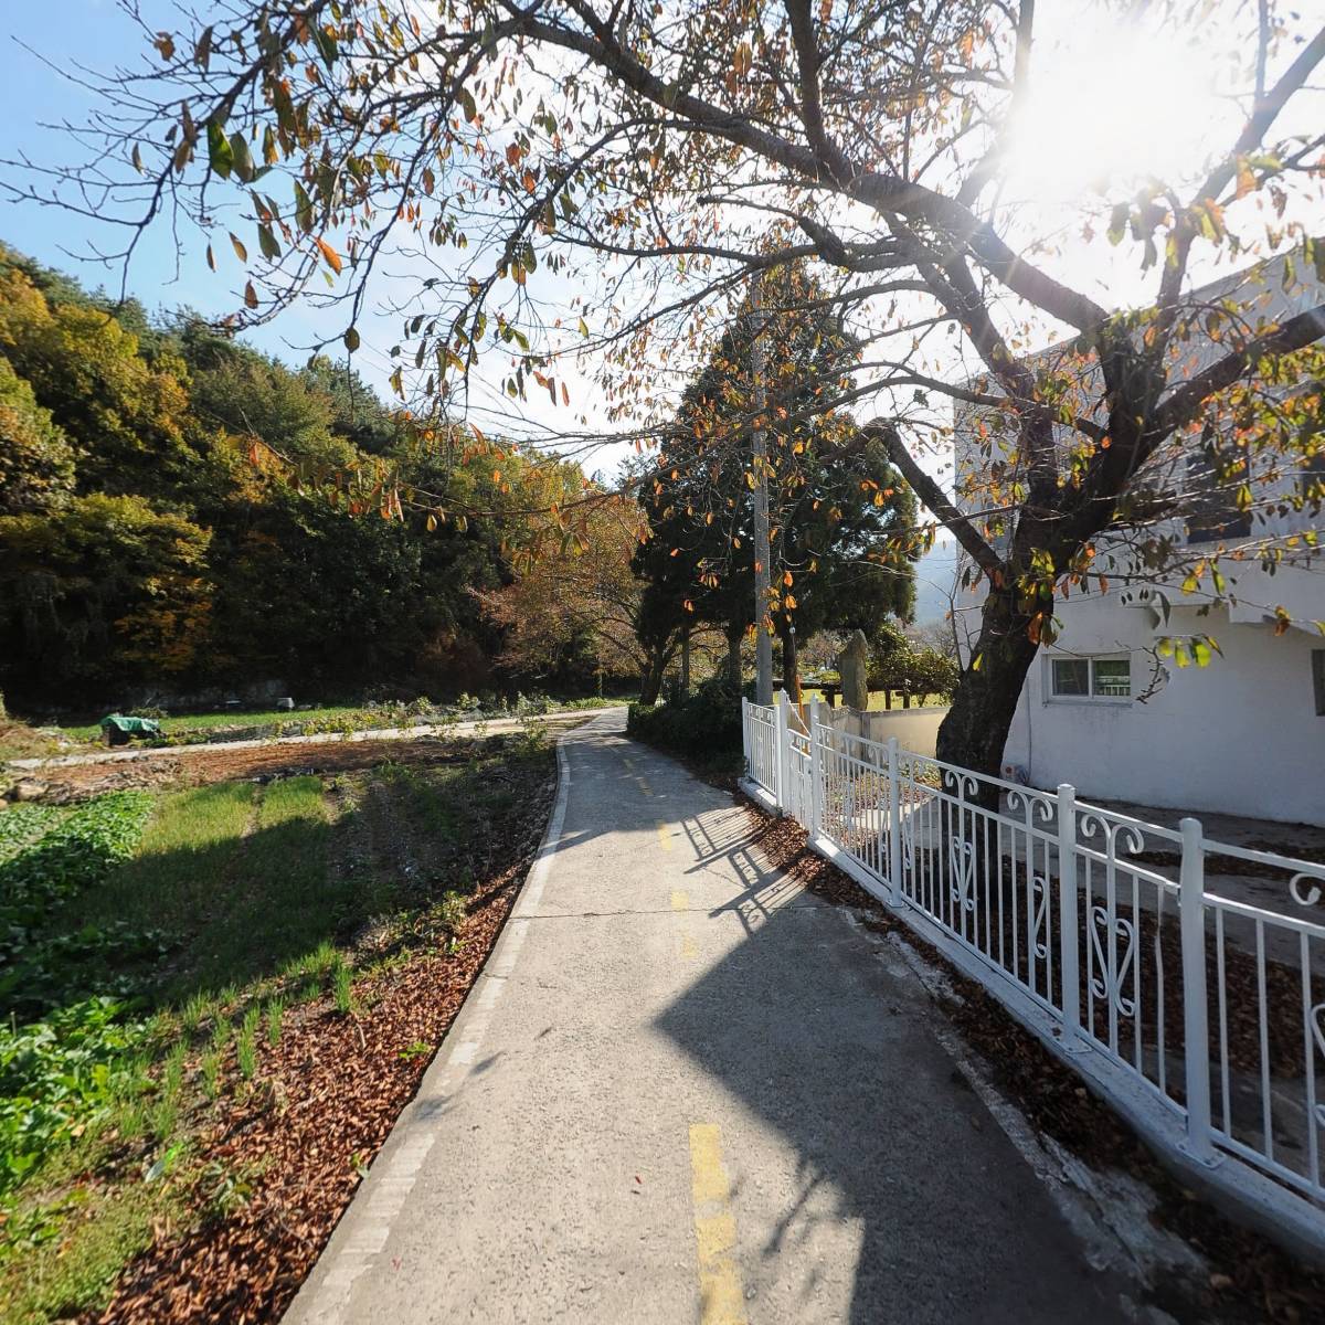
M994 778L1000 775L1016 701L1039 652L1039 645L1027 635L1028 623L1030 617L1016 610L1011 594L991 592L984 600L971 661L957 682L953 705L938 729L937 753L945 763ZM996 807L995 791L983 791L980 804Z

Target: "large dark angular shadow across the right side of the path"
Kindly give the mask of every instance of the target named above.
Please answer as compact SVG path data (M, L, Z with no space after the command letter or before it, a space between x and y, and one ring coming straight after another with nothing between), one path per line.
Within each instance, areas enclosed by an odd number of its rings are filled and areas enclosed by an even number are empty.
M723 908L745 937L657 1024L795 1151L780 1218L743 1265L754 1297L824 1318L823 1277L843 1271L816 1247L845 1223L860 1325L1059 1320L1068 1302L1079 1320L1117 1320L1106 1281L933 1039L918 986L825 904L753 876L753 832L714 845L701 864L725 857L746 884ZM774 1179L731 1169L739 1212L742 1187Z

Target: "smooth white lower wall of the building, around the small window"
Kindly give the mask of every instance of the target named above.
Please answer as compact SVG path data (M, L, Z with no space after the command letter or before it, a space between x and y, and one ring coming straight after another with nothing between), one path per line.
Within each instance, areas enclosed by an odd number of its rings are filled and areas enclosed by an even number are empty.
M1173 617L1157 629L1149 611L1114 594L1064 604L1064 633L1032 665L1004 765L1039 787L1071 782L1085 799L1325 825L1325 716L1312 678L1312 651L1325 639L1301 629L1276 637L1269 624L1230 623L1218 608ZM1198 631L1223 656L1204 668L1162 660L1167 677L1145 702L1051 694L1055 656L1128 655L1137 696L1151 678L1143 651L1155 636Z

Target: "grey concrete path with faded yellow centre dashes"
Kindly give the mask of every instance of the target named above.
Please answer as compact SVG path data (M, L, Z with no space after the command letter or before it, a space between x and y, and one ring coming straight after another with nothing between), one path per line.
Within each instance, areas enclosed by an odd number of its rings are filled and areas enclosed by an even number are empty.
M286 1320L1113 1322L904 963L606 714Z

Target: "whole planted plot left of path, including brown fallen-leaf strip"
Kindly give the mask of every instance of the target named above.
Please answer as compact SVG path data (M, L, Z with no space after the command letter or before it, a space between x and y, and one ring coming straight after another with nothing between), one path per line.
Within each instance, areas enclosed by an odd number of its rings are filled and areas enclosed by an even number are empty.
M0 815L0 1317L280 1314L546 815L541 735L411 761Z

